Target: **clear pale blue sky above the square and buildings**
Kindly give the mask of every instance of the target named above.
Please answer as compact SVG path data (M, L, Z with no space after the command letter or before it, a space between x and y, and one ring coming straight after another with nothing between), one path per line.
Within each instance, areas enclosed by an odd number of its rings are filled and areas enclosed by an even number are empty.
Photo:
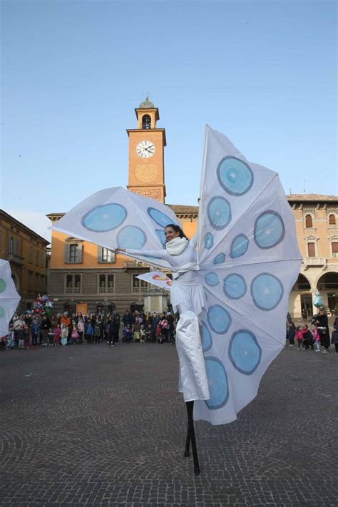
M285 192L337 194L337 1L2 0L1 208L125 186L134 108L165 128L166 203L197 205L205 123Z

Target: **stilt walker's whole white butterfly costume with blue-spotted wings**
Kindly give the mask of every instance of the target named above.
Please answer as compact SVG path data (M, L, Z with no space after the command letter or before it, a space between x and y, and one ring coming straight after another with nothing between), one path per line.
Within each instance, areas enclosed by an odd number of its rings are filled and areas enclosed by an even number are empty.
M162 203L111 188L53 228L173 272L180 391L195 400L195 420L225 424L255 398L285 346L301 262L295 221L277 173L247 162L207 126L198 231L184 250L165 247L169 223L178 220Z

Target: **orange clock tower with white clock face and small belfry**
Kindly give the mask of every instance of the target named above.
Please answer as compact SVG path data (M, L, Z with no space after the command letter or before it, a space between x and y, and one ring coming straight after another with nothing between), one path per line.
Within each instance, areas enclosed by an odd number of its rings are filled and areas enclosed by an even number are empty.
M164 203L165 129L156 128L160 119L148 97L135 109L137 128L128 129L129 174L128 190Z

